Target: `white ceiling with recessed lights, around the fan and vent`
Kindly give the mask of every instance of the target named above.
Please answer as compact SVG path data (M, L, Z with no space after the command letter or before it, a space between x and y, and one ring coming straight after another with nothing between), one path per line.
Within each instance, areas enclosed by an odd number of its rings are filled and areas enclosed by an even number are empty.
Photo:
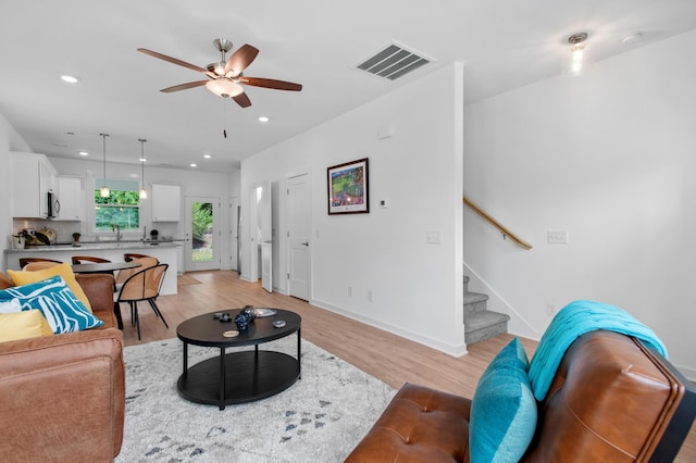
M0 113L36 152L231 172L239 161L452 61L467 102L554 75L567 38L587 32L600 60L696 28L694 0L8 1L0 7ZM643 33L626 46L621 39ZM260 50L245 71L301 92L246 87L239 108L204 87L161 88L202 74L136 51L204 67L214 38ZM355 66L393 40L434 63L396 82ZM69 85L62 74L79 77ZM262 124L260 115L270 117ZM223 137L226 130L227 138ZM74 135L70 135L73 133ZM203 160L209 153L211 160Z

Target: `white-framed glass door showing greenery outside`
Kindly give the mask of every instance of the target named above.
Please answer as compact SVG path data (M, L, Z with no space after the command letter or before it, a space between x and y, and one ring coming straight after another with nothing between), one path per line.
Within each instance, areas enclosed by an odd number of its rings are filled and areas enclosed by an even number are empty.
M220 268L220 199L186 197L186 270Z

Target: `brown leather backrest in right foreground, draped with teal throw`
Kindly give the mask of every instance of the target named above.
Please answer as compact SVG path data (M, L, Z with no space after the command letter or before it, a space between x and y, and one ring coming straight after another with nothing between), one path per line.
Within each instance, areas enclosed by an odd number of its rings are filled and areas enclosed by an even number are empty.
M664 358L592 331L566 352L525 461L672 461L695 413L693 385Z

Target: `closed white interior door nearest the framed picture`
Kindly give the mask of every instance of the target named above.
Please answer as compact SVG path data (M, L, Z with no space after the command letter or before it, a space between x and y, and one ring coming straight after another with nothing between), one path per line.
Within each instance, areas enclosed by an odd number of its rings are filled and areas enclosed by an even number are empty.
M288 178L288 292L306 301L310 293L310 202L309 174Z

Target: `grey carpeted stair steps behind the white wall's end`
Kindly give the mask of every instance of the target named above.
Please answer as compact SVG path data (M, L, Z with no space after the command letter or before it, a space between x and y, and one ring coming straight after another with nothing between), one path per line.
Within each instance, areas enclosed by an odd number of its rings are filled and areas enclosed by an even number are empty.
M488 295L469 291L464 276L464 342L468 346L508 333L510 315L486 309Z

